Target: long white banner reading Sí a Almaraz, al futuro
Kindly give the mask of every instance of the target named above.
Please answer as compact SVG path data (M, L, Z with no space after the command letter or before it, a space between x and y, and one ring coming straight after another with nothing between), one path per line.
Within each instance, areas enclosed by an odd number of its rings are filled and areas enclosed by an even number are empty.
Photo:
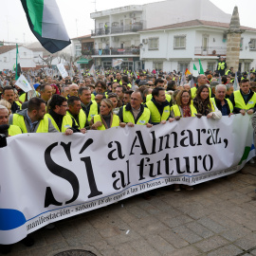
M233 174L255 155L252 138L248 115L9 137L0 149L0 244L137 193Z

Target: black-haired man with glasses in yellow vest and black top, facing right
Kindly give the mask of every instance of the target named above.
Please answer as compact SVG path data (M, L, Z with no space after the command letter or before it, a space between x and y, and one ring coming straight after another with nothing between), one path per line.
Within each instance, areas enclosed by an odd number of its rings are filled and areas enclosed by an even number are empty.
M67 100L58 94L54 94L49 101L49 113L46 117L51 119L51 122L58 132L65 135L72 135L74 132L80 132L75 120L66 115L68 108Z

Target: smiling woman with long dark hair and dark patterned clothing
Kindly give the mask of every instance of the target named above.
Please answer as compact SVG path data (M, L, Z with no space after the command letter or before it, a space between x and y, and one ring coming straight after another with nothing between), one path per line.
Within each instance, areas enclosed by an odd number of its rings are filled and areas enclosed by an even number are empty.
M221 119L222 113L218 108L210 101L210 89L207 85L201 85L197 91L196 96L192 100L193 106L198 114L207 117L208 119Z

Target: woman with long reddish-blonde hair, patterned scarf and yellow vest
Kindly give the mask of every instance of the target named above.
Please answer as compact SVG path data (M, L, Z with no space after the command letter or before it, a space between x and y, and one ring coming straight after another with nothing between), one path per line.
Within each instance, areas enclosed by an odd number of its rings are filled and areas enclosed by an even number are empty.
M195 117L197 111L192 105L192 96L187 90L182 90L176 97L176 104L171 108L172 118L190 118Z

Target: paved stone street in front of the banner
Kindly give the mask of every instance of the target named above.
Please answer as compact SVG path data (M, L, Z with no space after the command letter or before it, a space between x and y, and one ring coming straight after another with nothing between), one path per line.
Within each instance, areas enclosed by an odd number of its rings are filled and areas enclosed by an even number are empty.
M53 256L83 249L97 256L256 255L256 164L237 173L174 192L157 190L56 223L18 243L9 255ZM82 254L72 254L82 255Z

